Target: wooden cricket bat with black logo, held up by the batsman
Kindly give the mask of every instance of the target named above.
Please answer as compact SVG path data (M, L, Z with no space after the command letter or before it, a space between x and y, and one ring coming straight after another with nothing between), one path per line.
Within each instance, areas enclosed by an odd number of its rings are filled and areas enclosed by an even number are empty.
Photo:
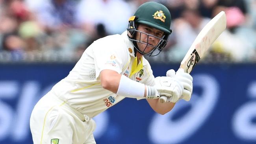
M190 73L198 63L200 58L210 48L211 44L221 35L226 29L226 14L221 11L218 15L210 20L197 35L195 41L190 46L187 54L180 63L180 68L185 72ZM160 102L165 103L167 96L161 96Z

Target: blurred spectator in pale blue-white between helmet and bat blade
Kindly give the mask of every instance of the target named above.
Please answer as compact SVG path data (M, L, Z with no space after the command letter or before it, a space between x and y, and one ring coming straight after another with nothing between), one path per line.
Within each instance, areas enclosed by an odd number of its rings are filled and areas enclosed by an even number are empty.
M184 9L182 17L176 18L173 23L176 44L169 51L169 59L173 62L181 61L198 33L209 21L210 19L202 17L197 9Z

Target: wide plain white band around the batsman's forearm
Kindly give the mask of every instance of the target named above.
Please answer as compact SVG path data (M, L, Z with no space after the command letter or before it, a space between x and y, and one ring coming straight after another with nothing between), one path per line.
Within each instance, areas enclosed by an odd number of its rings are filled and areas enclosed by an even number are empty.
M128 98L143 98L145 93L145 85L122 75L117 90L117 95Z

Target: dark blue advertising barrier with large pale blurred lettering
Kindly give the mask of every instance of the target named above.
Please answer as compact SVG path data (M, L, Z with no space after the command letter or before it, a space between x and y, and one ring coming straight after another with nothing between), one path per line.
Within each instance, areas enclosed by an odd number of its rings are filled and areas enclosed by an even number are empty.
M32 144L33 105L74 64L0 65L0 144ZM178 65L152 64L155 76ZM255 144L256 65L197 65L193 96L165 114L125 98L95 117L97 144Z

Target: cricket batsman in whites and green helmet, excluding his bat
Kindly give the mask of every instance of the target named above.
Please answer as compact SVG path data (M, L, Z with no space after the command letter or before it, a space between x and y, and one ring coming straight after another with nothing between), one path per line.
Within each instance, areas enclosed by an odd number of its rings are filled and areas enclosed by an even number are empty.
M189 100L189 74L169 70L167 76L154 78L143 56L163 50L170 25L167 7L146 2L129 18L127 31L93 42L69 75L35 105L30 118L34 144L96 144L93 117L126 97L146 99L160 114L180 99ZM162 95L168 96L166 103L159 102Z

